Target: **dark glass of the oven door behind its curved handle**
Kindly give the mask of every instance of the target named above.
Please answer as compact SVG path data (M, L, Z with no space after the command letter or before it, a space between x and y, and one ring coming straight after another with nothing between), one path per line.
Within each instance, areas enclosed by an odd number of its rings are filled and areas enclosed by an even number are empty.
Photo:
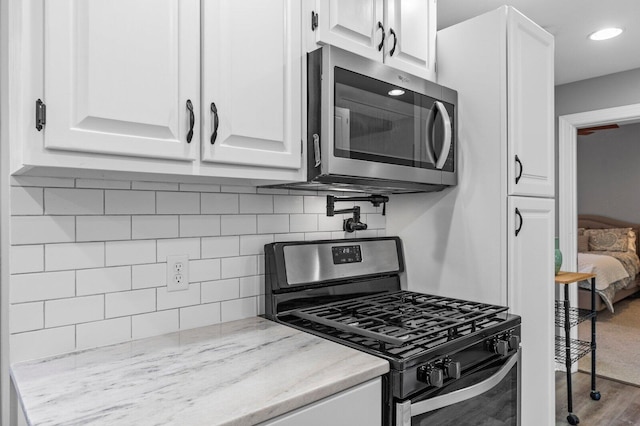
M502 366L493 365L456 380L442 389L440 395L472 386L494 375ZM413 400L412 403L418 400ZM518 364L496 386L453 405L411 418L412 426L516 426L518 425Z

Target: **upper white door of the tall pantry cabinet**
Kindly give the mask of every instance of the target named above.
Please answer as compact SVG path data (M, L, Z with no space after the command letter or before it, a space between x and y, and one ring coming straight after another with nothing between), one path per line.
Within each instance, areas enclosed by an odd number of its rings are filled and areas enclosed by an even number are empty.
M553 36L513 9L507 33L509 195L553 197Z

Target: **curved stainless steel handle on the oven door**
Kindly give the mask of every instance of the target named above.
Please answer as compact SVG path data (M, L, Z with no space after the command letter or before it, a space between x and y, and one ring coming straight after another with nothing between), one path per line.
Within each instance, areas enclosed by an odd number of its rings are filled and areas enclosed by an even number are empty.
M411 400L396 404L396 425L411 426L411 417L457 404L458 402L475 398L476 396L487 392L497 386L498 383L500 383L502 379L509 374L509 371L511 371L511 368L513 368L519 359L520 349L518 349L518 352L512 355L511 358L509 358L509 361L507 361L506 364L504 364L493 376L480 383L476 383L468 388L453 391L446 395L440 395L435 398L416 402L415 404L412 404Z

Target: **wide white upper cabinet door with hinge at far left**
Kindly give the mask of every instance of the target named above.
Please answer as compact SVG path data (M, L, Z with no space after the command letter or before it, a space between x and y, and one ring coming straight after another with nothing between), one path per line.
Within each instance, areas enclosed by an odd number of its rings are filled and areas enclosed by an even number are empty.
M199 1L44 3L45 147L194 160Z

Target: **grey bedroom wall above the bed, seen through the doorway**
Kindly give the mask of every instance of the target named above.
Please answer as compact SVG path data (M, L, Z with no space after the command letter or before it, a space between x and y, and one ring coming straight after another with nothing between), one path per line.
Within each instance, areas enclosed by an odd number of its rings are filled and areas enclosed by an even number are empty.
M640 222L640 123L579 136L577 164L578 213Z

